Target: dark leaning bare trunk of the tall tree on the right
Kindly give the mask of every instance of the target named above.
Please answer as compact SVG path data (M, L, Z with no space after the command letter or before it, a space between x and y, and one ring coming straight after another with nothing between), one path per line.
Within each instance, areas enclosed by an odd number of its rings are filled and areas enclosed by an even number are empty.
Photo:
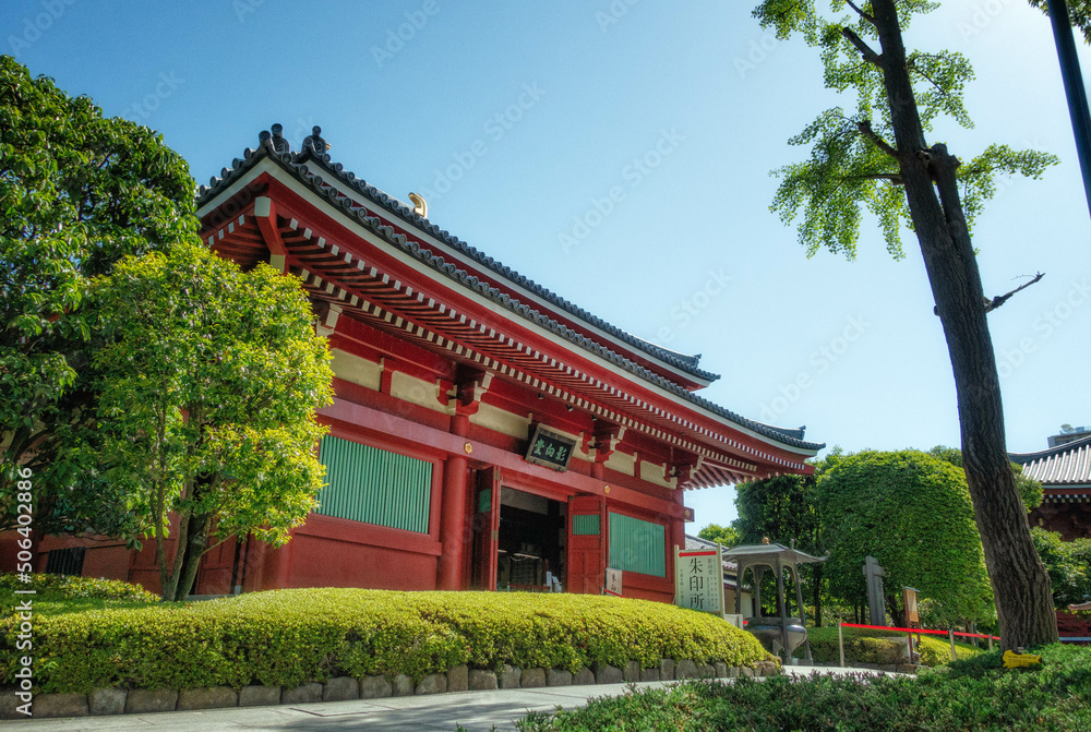
M896 149L958 394L962 464L985 550L1002 646L1057 640L1050 577L1030 536L1004 439L1004 410L984 292L945 145L928 147L918 113L895 0L873 0ZM865 133L870 130L865 130Z

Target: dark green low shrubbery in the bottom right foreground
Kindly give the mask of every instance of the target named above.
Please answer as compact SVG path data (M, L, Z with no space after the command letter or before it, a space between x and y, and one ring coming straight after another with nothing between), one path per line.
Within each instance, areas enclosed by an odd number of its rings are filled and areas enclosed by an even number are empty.
M597 699L584 709L531 712L523 732L577 730L1091 730L1091 652L1059 644L1040 669L999 668L999 652L920 676L774 676L685 682Z

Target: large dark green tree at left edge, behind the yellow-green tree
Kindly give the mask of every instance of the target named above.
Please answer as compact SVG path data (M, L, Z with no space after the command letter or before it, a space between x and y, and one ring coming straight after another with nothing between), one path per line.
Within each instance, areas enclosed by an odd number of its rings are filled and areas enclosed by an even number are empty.
M122 256L195 235L193 188L158 134L0 57L0 531L15 526L17 466L37 532L132 528L97 472L84 298Z

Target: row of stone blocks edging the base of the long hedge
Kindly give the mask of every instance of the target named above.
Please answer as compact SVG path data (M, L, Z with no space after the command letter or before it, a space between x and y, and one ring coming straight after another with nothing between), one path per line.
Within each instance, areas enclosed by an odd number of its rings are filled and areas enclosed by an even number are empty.
M678 670L678 671L675 671ZM543 686L570 686L589 684L613 684L622 681L673 681L686 677L735 679L738 676L774 676L780 673L775 661L757 661L753 667L729 667L722 661L714 664L696 664L691 660L664 658L659 665L642 669L630 661L624 669L596 664L592 671L586 667L576 673L566 669L518 669L505 665L499 673L490 670L455 667L445 674L424 676L415 684L406 675L394 679L386 676L364 676L351 679L338 676L325 683L312 682L296 687L243 686L238 693L226 686L212 688L132 689L99 688L91 694L36 694L32 706L34 717L64 718L101 715L134 715L154 711L182 711L187 709L223 709L227 707L255 707L276 704L301 704L339 699L376 699L391 696L415 696L439 694L446 691L483 691L495 688L541 688ZM0 719L26 719L16 710L15 688L0 689Z

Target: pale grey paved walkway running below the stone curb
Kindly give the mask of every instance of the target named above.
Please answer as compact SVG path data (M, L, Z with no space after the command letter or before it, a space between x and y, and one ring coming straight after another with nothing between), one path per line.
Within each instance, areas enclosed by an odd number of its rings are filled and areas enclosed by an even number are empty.
M791 667L792 674L866 673L863 669L814 669ZM673 682L646 682L638 688L658 688ZM324 701L319 704L279 705L207 709L204 711L170 711L156 715L120 715L117 717L80 717L75 719L35 719L4 721L0 724L12 732L241 732L242 730L372 730L394 732L410 730L432 732L456 730L461 724L477 732L514 730L515 720L527 711L551 711L582 707L600 696L620 696L630 684L595 686L551 686L547 688L502 689L497 692L458 692L430 696L404 696L358 701Z

